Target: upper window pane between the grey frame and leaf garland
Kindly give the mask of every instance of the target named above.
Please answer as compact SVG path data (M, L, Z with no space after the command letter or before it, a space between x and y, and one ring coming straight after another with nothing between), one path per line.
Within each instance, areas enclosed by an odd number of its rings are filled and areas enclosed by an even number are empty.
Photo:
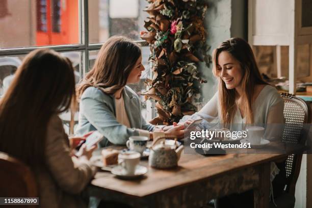
M147 4L145 0L89 0L89 42L105 42L113 35L140 40Z

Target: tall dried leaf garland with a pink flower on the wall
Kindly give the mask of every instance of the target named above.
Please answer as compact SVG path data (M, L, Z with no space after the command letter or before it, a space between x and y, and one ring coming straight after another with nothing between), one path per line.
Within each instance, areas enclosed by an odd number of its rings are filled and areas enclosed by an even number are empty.
M149 43L153 77L143 95L157 101L159 116L153 124L172 124L196 111L192 101L205 83L197 63L211 61L205 45L204 0L147 0L149 17L141 38ZM208 48L208 49L207 49Z

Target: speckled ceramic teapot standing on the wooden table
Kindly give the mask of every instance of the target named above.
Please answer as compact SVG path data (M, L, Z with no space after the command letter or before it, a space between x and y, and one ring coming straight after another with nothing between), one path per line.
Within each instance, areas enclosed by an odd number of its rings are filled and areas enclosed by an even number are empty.
M177 166L184 146L180 145L177 149L175 148L176 145L166 145L165 138L158 138L150 147L149 166L153 168L172 168Z

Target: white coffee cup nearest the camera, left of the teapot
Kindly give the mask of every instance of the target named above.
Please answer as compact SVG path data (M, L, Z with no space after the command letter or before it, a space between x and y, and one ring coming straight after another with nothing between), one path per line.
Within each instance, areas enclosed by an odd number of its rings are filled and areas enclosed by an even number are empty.
M126 151L118 155L118 164L123 168L125 175L134 175L140 162L141 154L135 151Z

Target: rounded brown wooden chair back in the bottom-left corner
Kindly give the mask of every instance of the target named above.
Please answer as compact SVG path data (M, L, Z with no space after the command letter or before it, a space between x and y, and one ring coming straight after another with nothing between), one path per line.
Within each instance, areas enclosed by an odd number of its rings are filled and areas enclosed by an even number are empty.
M36 180L31 169L4 152L0 152L0 196L38 196Z

